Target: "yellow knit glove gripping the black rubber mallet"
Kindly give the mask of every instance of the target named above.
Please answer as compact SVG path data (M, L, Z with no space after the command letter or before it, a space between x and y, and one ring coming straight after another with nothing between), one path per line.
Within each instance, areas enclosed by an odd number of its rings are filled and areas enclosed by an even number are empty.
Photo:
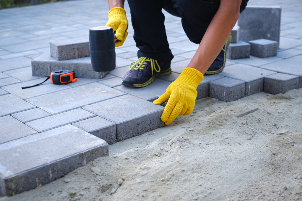
M118 42L115 43L115 47L122 46L128 36L128 20L126 17L126 11L123 8L112 8L108 13L108 22L106 27L112 27L115 32L115 37Z

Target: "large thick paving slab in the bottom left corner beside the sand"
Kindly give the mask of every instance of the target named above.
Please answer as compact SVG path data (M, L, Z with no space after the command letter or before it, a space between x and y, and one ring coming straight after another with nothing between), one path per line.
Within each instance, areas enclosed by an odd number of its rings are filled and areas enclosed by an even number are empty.
M3 143L0 145L0 196L12 196L48 184L108 155L104 140L72 125Z

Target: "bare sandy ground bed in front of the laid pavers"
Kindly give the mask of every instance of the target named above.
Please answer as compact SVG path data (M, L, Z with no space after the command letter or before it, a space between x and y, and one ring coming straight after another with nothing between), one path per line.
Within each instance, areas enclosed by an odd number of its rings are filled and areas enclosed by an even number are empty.
M297 200L301 103L301 89L202 99L191 115L109 146L109 157L0 200Z

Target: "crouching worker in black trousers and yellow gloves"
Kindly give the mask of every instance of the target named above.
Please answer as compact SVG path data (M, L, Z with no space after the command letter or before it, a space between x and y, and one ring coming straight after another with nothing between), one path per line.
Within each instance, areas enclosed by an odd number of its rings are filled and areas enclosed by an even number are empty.
M197 86L204 74L220 73L226 61L231 42L231 31L245 9L248 0L128 0L133 38L138 60L130 64L122 84L144 87L156 77L171 73L173 55L165 33L165 16L162 8L182 18L182 27L191 42L199 47L188 66L168 86L166 92L153 103L160 105L168 100L161 119L170 124L178 115L189 115L195 105ZM123 45L128 33L124 0L108 0L109 20L119 42ZM173 67L173 66L172 66ZM135 104L133 102L133 104Z

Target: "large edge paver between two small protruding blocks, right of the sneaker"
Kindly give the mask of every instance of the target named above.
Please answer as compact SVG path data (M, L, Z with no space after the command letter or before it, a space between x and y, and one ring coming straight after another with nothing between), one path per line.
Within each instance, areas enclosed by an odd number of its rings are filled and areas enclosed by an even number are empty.
M264 77L275 73L274 71L268 71L245 64L234 64L225 67L219 75L244 81L245 96L250 96L262 92Z

